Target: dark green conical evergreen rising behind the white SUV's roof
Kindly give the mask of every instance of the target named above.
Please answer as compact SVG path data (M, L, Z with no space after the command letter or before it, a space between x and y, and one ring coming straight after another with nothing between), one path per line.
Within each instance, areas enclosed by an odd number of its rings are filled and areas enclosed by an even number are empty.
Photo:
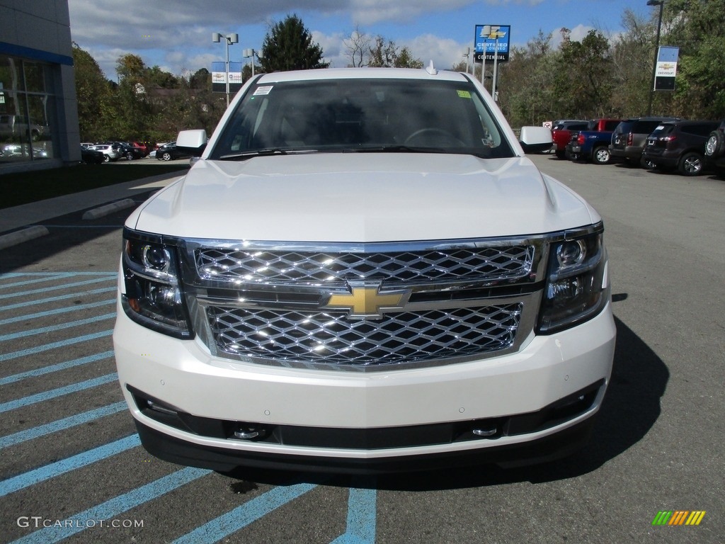
M322 47L312 42L310 30L297 15L288 15L285 20L270 27L262 42L260 64L265 73L326 68L330 65L323 61Z

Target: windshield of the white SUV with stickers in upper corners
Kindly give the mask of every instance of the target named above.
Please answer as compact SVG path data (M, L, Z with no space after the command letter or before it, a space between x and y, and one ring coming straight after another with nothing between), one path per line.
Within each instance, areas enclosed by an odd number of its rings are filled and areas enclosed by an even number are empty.
M468 81L351 78L251 86L210 158L390 151L513 157Z

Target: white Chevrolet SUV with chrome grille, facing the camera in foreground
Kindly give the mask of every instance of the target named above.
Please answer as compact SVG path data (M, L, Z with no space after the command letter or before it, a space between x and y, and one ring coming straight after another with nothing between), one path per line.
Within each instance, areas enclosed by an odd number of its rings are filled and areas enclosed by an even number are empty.
M368 472L587 439L615 326L600 215L469 75L257 75L123 231L115 355L159 458Z

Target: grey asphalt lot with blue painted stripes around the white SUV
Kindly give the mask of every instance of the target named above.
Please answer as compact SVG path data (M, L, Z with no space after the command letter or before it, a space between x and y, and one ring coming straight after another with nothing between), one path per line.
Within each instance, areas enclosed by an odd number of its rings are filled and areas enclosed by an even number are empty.
M128 210L78 212L0 252L0 541L721 542L725 181L533 158L605 219L618 345L581 453L332 479L158 461L138 446L111 353ZM663 510L706 514L653 527Z

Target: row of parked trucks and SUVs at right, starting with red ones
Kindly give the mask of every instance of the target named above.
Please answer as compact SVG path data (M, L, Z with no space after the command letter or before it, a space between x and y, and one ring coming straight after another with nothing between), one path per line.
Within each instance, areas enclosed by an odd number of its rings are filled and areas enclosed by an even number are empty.
M625 161L697 176L721 168L725 121L677 118L560 120L552 125L559 158L597 164Z

